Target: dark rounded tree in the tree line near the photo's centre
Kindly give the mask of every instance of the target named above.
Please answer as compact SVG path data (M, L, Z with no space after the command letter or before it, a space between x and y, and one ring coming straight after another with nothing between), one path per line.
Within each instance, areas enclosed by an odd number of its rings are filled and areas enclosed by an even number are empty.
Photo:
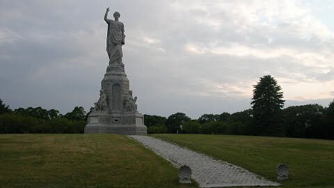
M181 126L191 120L185 113L177 112L170 115L166 120L166 126L169 133L176 133L181 130Z

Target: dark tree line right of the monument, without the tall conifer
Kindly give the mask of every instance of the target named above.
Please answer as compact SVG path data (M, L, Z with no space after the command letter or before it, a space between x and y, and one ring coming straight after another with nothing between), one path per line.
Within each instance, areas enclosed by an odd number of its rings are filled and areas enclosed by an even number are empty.
M175 113L168 118L145 116L149 134L233 134L253 136L287 136L295 138L334 139L334 101L328 108L319 104L287 107L282 110L282 123L258 127L253 109L236 113L203 114L191 120L185 113Z

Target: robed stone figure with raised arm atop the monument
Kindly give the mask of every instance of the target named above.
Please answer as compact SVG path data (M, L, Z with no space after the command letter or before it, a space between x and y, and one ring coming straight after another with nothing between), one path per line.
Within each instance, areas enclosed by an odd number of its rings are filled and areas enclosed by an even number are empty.
M122 45L125 45L124 24L118 21L120 13L113 13L115 20L108 19L109 7L106 8L104 20L108 24L106 35L106 52L109 56L109 65L122 65Z

